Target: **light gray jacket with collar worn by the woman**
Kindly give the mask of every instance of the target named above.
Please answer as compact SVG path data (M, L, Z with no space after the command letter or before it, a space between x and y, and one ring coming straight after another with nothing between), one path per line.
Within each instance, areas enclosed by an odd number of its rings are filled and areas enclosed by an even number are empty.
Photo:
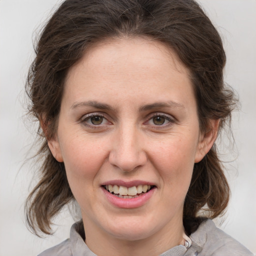
M177 245L159 256L253 256L253 254L231 236L217 228L210 219L202 222L190 235L192 244L186 249ZM77 223L70 229L70 238L49 248L38 256L96 256L77 232Z

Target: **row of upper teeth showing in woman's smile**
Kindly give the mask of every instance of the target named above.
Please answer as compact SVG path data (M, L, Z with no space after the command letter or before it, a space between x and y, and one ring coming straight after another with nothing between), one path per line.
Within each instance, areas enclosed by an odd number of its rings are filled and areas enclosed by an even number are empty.
M142 192L146 192L151 188L150 185L138 185L138 186L118 186L118 185L106 185L106 190L110 193L120 194L120 195L136 195L137 193L140 194Z

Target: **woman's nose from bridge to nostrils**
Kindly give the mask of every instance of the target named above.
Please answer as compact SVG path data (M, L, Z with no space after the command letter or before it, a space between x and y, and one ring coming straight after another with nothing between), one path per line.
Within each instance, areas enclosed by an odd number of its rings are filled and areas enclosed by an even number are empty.
M125 127L115 132L109 162L122 171L132 171L146 163L141 134L136 127Z

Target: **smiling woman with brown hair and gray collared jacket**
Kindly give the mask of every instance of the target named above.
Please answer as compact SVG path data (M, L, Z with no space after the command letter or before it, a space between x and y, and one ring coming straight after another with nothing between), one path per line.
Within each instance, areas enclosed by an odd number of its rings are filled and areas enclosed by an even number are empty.
M44 139L27 221L50 233L73 200L82 220L40 255L252 255L210 220L229 196L214 145L235 104L224 64L192 0L60 5L27 80Z

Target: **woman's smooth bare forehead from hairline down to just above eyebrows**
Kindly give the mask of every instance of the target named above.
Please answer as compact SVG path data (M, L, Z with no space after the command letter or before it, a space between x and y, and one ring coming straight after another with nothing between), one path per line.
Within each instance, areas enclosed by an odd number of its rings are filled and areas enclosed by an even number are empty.
M89 47L68 70L64 96L142 100L157 93L162 100L170 89L173 98L193 94L189 71L171 48L150 38L116 38Z

